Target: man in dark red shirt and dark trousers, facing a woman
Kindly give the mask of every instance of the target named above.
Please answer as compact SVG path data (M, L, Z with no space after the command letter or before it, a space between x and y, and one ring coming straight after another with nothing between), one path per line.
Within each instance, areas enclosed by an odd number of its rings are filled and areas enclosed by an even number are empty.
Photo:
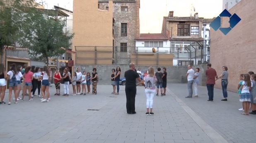
M208 63L207 64L207 70L205 72L207 80L206 80L206 87L208 90L208 96L209 100L208 101L213 101L213 89L215 85L215 78L217 79L217 72L215 69L212 68L212 64Z

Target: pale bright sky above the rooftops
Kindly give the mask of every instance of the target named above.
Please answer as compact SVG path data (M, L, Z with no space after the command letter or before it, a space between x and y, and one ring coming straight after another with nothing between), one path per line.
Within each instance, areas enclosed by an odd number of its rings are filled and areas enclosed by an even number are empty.
M45 8L54 5L73 10L73 0L36 0ZM163 17L174 11L174 17L189 17L198 12L199 17L213 18L222 12L222 0L140 0L140 33L161 33Z

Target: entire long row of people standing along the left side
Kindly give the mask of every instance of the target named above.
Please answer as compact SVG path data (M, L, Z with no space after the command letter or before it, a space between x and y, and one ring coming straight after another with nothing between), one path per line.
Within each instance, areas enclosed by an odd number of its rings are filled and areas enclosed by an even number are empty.
M12 91L14 93L14 103L17 104L18 100L24 100L25 95L28 95L29 101L33 101L33 97L37 96L35 94L36 89L38 90L38 97L41 98L41 102L49 102L51 100L49 93L50 81L53 78L56 93L54 95L60 95L60 82L63 82L64 94L63 96L69 95L69 84L72 84L73 95L83 94L86 95L86 86L87 93L90 93L90 84L92 82L92 94L97 94L97 69L93 68L92 77L90 73L80 72L80 68L77 68L77 71L71 74L68 67L63 71L63 74L60 74L59 70L56 69L55 73L51 72L51 69L47 66L44 66L43 69L35 66L27 66L22 68L22 66L16 66L16 64L10 65L10 70L6 73L4 64L0 64L0 104L6 104L4 102L5 91L7 81L9 88L9 101L8 105L12 102ZM82 93L81 92L82 84ZM19 97L21 88L22 97ZM75 88L76 87L76 88ZM41 92L41 95L40 95Z

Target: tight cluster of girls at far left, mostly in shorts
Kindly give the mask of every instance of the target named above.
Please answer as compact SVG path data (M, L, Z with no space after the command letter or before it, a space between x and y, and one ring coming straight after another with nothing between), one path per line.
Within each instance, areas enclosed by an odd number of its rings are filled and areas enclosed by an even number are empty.
M10 65L10 70L6 73L5 66L0 64L0 104L5 104L5 90L7 82L9 81L9 102L12 101L12 91L14 92L14 103L17 104L18 100L24 100L25 95L28 94L29 101L33 101L35 96L36 88L38 88L38 95L42 97L43 102L49 102L50 94L47 86L50 85L51 72L50 68L44 66L43 72L41 72L40 67L27 66L22 69L21 66L16 66L16 64ZM22 98L19 97L23 82ZM28 93L27 93L28 90ZM40 96L40 91L42 96ZM32 95L31 95L32 93Z

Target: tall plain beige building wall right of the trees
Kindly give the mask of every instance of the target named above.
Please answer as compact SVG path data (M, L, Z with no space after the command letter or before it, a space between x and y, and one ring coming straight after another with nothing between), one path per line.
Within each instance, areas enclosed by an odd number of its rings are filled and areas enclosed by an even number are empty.
M74 0L73 7L73 51L75 46L112 46L113 1L109 0L109 10L99 10L97 0ZM112 48L105 50L112 51ZM80 53L74 62L86 56ZM112 53L104 56L112 58ZM97 64L112 64L112 60L102 61L104 63ZM80 60L80 64L83 63Z

